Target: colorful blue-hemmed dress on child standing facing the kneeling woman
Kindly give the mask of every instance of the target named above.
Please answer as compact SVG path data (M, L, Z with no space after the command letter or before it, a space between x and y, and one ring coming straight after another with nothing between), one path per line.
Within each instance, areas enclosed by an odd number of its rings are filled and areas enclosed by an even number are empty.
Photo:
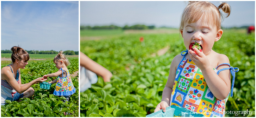
M62 68L60 68L60 70L62 70ZM64 71L65 70L62 70L62 77L57 77L57 84L53 92L55 96L69 96L75 93L75 87L72 83L69 71L66 70L67 76L63 77Z

